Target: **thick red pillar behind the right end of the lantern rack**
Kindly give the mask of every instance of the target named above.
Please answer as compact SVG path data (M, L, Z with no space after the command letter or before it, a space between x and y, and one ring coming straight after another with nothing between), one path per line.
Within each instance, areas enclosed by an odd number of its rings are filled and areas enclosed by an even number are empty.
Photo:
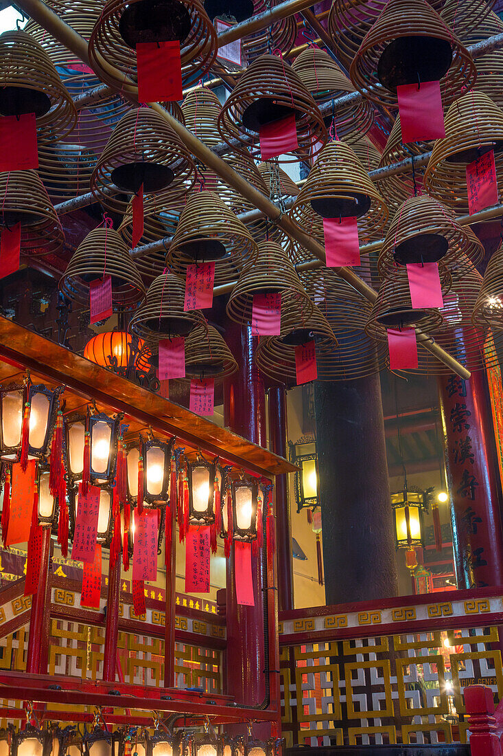
M251 328L230 324L227 343L239 370L224 387L224 423L255 444L265 446L264 383L253 362L258 339ZM255 606L236 602L233 551L227 560L227 694L238 704L258 705L266 695L264 675L264 596L260 560L252 557Z

